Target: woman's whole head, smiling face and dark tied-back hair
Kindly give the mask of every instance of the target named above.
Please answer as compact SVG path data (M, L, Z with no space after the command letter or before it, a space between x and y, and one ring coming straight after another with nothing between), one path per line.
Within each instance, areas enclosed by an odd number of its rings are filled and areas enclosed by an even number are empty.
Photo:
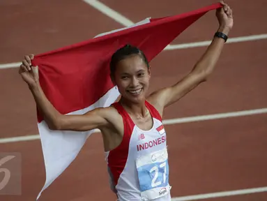
M141 50L131 45L121 47L112 56L110 72L112 82L118 87L123 99L134 103L145 99L150 68Z

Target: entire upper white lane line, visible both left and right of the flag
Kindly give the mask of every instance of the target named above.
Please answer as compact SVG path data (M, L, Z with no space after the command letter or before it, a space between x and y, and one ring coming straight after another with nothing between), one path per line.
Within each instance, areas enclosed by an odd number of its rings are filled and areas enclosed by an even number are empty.
M253 41L253 40L264 40L267 39L267 34L260 34L260 35L252 35L252 36L241 36L236 38L229 38L227 40L227 43L241 43L245 41ZM178 49L187 49L192 47L204 47L211 44L210 41L201 41L196 43L185 43L180 45L168 45L165 47L165 50L178 50ZM0 69L4 68L17 68L22 64L21 62L17 63L10 63L10 64L0 64Z

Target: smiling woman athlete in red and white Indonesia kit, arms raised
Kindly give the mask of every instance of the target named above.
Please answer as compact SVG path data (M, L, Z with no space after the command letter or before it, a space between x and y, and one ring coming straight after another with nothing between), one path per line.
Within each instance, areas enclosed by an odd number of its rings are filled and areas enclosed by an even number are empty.
M162 112L207 80L217 63L233 27L231 8L221 2L216 10L219 29L211 45L182 80L146 97L151 69L137 47L125 45L110 62L110 76L121 93L119 102L82 115L60 114L47 100L38 80L38 67L26 55L20 75L52 130L89 131L100 129L112 190L118 200L171 200L166 133Z

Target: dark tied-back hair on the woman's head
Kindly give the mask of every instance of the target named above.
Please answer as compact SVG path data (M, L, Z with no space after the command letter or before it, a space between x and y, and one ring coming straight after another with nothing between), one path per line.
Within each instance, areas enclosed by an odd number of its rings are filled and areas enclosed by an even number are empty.
M114 75L115 70L116 70L116 64L119 61L129 57L132 54L139 55L139 57L141 57L146 63L147 68L149 68L149 64L146 59L146 55L144 55L144 52L142 52L142 50L139 50L139 48L128 44L128 45L121 47L119 50L116 50L116 52L112 55L112 59L109 64L110 74Z

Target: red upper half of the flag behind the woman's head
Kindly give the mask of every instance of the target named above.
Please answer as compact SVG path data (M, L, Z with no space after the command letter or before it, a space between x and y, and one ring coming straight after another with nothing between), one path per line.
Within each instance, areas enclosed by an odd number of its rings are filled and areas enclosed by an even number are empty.
M89 107L113 84L109 77L112 54L130 43L141 49L148 61L157 56L176 36L220 3L181 15L152 19L143 24L82 43L36 55L40 85L56 110L67 114ZM43 118L38 114L38 121Z

